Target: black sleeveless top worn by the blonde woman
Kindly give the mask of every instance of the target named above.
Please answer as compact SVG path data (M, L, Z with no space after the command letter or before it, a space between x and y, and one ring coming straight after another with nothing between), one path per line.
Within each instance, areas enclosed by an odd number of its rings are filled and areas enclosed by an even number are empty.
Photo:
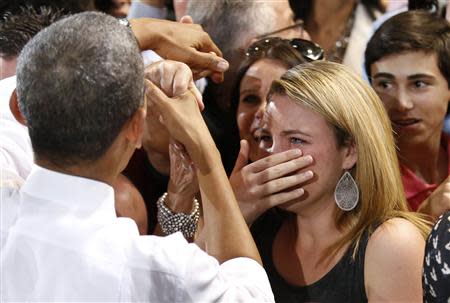
M308 286L295 286L285 281L273 264L272 245L280 229L283 214L268 211L252 226L252 233L269 276L276 302L367 302L364 286L364 256L369 239L361 238L355 260L350 246L342 259L320 280Z

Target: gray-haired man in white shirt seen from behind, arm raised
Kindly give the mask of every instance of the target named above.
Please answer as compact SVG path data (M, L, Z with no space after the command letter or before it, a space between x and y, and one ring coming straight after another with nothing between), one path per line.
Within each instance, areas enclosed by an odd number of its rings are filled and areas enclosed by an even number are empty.
M18 59L17 98L37 165L2 201L19 205L2 250L2 301L273 301L194 94L171 100L147 85L197 167L215 258L180 233L139 236L116 217L111 185L142 141L143 63L129 28L78 14L37 34Z

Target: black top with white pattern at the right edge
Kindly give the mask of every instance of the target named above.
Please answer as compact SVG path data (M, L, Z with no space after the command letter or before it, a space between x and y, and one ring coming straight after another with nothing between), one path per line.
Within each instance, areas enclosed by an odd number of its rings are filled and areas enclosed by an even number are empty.
M423 267L424 302L450 302L450 212L428 237Z

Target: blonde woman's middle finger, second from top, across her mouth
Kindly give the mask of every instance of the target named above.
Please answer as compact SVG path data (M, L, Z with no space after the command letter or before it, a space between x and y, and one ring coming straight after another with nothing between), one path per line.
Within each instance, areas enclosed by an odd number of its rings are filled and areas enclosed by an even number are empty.
M277 164L275 166L269 167L268 169L259 172L256 176L256 181L258 182L258 184L263 184L270 180L278 179L292 172L299 171L300 169L303 169L309 164L311 164L312 162L313 162L312 157L308 155Z

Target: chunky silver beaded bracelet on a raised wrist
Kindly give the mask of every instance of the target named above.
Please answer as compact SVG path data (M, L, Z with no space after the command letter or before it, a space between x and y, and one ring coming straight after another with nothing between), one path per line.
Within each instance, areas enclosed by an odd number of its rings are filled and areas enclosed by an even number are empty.
M194 205L190 214L174 213L166 206L166 197L167 192L156 203L158 207L158 223L162 231L166 235L181 231L186 239L193 238L197 230L198 219L200 218L200 204L198 200L194 198Z

